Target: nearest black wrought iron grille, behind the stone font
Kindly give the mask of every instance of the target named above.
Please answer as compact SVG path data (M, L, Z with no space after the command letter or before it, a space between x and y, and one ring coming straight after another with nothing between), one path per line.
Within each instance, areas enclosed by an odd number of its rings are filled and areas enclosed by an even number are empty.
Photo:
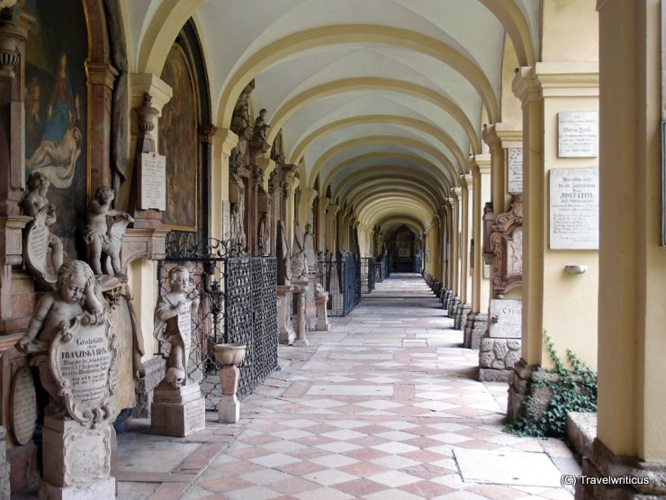
M277 266L275 257L250 257L228 241L197 243L192 233L166 238L166 259L158 263L159 294L168 291L168 272L177 265L190 270L191 297L201 304L193 318L188 377L201 379L206 409L220 403L220 366L214 345L247 345L246 359L238 365L238 397L252 392L277 364ZM167 356L169 345L158 352Z

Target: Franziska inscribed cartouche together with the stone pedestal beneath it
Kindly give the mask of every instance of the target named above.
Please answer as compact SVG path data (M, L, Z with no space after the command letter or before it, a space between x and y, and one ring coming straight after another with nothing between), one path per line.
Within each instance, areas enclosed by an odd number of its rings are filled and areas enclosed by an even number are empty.
M115 497L111 423L119 355L106 312L76 316L51 342L49 367L66 414L44 418L40 498Z

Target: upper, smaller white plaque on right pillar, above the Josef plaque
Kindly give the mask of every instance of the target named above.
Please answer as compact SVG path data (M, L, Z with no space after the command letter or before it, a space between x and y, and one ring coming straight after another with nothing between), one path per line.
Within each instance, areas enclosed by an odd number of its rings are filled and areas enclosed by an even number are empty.
M578 111L558 113L557 156L597 158L599 156L599 113Z

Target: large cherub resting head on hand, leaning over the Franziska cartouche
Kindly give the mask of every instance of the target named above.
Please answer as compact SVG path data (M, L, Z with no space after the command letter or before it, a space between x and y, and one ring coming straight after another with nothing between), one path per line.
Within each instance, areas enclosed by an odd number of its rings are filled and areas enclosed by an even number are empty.
M16 349L33 355L31 365L39 367L41 385L53 398L45 410L46 414L57 414L63 407L58 385L49 367L50 344L63 323L71 322L84 311L95 315L103 313L95 287L93 270L83 260L70 260L60 266L57 290L41 296L28 323L28 330L16 343Z

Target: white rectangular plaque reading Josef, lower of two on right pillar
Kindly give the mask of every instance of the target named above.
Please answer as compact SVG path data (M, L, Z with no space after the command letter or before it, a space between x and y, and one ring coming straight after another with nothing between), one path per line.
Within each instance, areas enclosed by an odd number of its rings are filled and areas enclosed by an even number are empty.
M599 249L599 168L550 170L550 248Z

